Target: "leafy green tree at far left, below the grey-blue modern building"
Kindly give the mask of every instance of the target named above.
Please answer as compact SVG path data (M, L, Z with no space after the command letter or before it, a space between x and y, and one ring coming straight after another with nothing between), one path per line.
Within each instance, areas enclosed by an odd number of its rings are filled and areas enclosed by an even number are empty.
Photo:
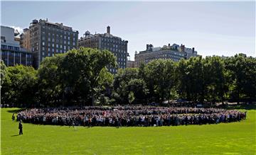
M1 101L16 107L31 107L36 102L37 71L33 67L16 65L6 68L1 89Z

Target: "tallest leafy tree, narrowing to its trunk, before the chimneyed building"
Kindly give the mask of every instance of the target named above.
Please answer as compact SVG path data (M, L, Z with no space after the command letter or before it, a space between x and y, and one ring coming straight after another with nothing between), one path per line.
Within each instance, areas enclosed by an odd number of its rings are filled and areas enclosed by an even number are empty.
M80 62L82 67L84 67L80 70L80 78L89 81L86 83L89 86L90 104L94 105L95 98L97 98L97 88L102 85L102 79L105 79L102 76L110 76L110 74L106 73L106 68L117 67L116 57L107 50L100 51L84 47L80 47L79 50L72 50L70 54L73 52L75 57L77 57L76 61Z

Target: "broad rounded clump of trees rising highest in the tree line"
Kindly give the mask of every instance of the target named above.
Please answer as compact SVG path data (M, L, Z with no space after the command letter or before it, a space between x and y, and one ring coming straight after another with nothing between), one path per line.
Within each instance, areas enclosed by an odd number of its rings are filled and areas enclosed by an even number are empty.
M94 105L100 88L112 83L107 67L116 67L115 59L112 52L85 47L44 59L38 75L45 103Z

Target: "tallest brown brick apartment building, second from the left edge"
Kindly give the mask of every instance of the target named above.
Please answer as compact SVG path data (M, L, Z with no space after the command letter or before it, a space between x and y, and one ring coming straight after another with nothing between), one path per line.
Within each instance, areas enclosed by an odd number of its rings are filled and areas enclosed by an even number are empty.
M78 31L63 23L33 20L24 29L21 45L33 53L33 67L38 68L44 57L65 53L78 47Z

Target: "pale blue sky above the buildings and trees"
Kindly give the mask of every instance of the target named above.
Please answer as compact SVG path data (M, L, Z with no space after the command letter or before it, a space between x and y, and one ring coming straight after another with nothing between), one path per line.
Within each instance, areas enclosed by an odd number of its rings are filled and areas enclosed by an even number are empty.
M198 54L255 57L255 1L1 1L1 25L28 28L34 19L79 31L111 33L128 40L128 52L168 43L195 47Z

